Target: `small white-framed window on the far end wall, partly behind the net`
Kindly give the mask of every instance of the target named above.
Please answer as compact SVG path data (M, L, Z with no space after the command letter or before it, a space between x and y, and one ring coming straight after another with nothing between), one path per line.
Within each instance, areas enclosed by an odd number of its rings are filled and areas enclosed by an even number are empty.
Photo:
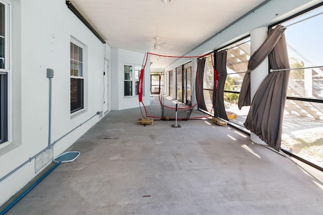
M140 71L140 65L124 65L124 96L138 96ZM133 92L134 89L135 93Z

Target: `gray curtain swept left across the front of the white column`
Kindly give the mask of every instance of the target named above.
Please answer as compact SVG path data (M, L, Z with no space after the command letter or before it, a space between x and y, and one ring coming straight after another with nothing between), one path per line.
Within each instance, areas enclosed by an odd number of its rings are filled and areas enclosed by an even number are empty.
M270 30L267 39L262 43L262 45L250 56L248 62L248 69L242 81L242 86L240 90L238 107L250 105L250 72L255 69L273 50L277 42L280 40L285 30L281 30L283 26L278 25L275 29Z

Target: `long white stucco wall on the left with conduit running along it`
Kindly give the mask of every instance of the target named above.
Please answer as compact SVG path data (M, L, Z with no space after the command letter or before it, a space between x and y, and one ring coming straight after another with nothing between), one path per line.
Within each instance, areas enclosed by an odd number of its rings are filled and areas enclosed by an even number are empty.
M97 111L109 111L106 103L111 103L108 83L110 65L104 65L104 58L111 63L111 48L90 32L67 8L65 1L8 2L12 22L11 134L10 142L0 146L0 178L48 146L49 79L46 78L46 68L54 70L51 143L94 116ZM71 37L84 44L85 70L84 111L73 116L70 113ZM107 69L105 76L104 66ZM63 153L98 120L99 115L95 115L57 142L53 147L53 157ZM35 160L32 160L0 182L0 205L40 172L35 174L34 166Z

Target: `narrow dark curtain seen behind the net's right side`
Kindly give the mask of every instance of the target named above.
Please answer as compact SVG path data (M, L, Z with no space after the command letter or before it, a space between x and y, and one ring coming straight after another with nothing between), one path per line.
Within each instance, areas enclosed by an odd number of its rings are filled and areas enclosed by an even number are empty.
M206 105L204 101L204 95L203 95L203 76L204 76L204 66L205 66L205 58L200 58L197 60L197 74L196 74L196 80L195 80L195 94L196 94L196 101L197 101L197 107L206 110Z

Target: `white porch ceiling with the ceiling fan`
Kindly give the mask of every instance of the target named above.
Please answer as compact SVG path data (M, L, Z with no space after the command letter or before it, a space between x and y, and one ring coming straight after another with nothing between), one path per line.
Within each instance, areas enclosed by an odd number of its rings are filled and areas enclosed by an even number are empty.
M264 0L71 0L113 48L181 56ZM153 48L167 42L159 50ZM212 49L213 47L210 47Z

